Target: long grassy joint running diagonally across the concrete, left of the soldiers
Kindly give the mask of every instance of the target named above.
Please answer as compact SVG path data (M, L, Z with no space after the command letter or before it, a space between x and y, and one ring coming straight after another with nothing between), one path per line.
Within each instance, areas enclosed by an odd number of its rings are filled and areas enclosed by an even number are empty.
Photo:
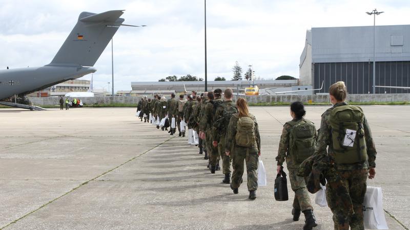
M87 181L84 182L84 183L81 183L81 185L75 187L74 189L71 189L71 190L68 191L67 193L65 193L65 194L63 194L63 195L61 195L61 196L59 196L59 197L57 197L57 198L55 198L55 199L53 199L53 200L51 200L51 201L49 201L49 202L47 202L47 203L45 203L45 204L39 206L39 208L37 208L37 209L35 209L35 210L33 210L33 211L27 213L26 215L24 215L24 216L22 216L22 217L20 217L20 218L18 218L18 219L16 219L16 220L11 221L11 222L8 223L7 225L5 225L5 226L3 226L3 227L0 227L0 230L2 230L2 229L4 229L4 228L6 228L6 227L8 227L8 226L10 226L10 225L12 225L12 224L14 224L14 223L16 223L16 222L19 221L19 220L24 219L25 217L27 217L27 216L29 216L29 215L31 215L31 214L37 212L37 211L40 210L40 209L43 209L45 206L47 206L47 205L51 204L52 202L54 202L54 201L60 199L61 197L64 197L64 196L70 194L71 192L74 192L75 190L77 190L77 189L79 189L79 188L81 188L81 187L87 185L90 181L96 180L96 179L98 179L99 177L104 176L104 175L106 175L107 173L110 173L110 172L112 172L112 171L118 169L119 167L124 166L124 165L126 165L127 163L132 162L134 159L136 159L136 158L138 158L138 157L140 157L140 156L142 156L142 155L145 155L146 153L150 152L151 150L154 150L155 148L161 146L162 144L165 144L165 143L171 141L171 140L174 139L175 137L176 137L176 136L173 136L173 137L171 137L170 139L168 139L168 140L166 140L166 141L164 141L164 142L162 142L162 143L159 143L159 144L156 145L155 147L153 147L153 148L151 148L151 149L149 149L149 150L147 150L147 151L145 151L145 152L143 152L143 153L141 153L141 154L139 154L139 155L137 155L137 156L134 156L133 158L127 160L126 162L124 162L124 163L122 163L122 164L120 164L120 165L118 165L118 166L116 166L116 167L114 167L114 168L112 168L112 169L110 169L110 170L104 172L104 173L101 173L100 175L98 175L98 176L96 176L96 177L94 177L94 178L92 178L92 179L90 179L90 180L87 180Z

